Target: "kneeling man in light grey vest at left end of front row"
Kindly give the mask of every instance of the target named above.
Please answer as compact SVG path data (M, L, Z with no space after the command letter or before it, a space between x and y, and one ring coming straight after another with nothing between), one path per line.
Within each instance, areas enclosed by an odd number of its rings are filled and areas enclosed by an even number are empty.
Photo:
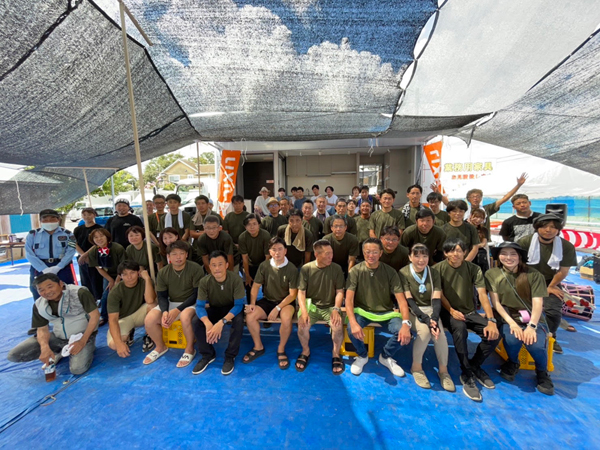
M34 279L39 298L33 306L31 326L37 336L21 342L9 353L11 362L28 362L39 359L50 365L58 363L61 352L71 336L82 333L69 350L69 369L73 375L86 372L92 365L96 350L96 334L100 312L96 299L87 288L64 284L58 275L45 273ZM50 332L48 324L52 324Z

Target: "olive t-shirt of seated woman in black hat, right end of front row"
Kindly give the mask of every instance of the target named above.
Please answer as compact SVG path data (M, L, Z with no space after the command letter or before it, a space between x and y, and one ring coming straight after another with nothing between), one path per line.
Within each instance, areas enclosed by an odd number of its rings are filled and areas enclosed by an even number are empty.
M519 310L528 309L531 311L533 307L531 299L536 297L547 297L548 289L546 288L544 276L537 270L530 268L529 272L527 272L527 281L531 288L531 297L521 297L521 300L527 305L527 308L525 308L517 296L518 292L515 292L517 288L516 280L517 276L514 273L507 272L500 267L494 267L485 273L487 290L498 294L502 306L504 306L517 323L521 323Z

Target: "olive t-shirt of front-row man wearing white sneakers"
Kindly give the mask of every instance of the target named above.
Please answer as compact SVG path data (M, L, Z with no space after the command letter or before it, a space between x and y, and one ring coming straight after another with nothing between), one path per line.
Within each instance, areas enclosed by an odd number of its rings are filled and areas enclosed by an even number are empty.
M350 269L346 289L355 292L355 308L375 313L392 311L397 306L392 297L404 293L398 272L381 261L377 269L365 261Z

